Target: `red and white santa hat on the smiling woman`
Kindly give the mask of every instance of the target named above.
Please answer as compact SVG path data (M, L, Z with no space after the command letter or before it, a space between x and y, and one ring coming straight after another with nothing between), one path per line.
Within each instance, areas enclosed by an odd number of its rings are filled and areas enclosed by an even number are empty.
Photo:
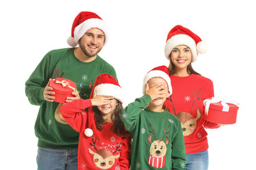
M169 59L171 51L178 45L186 45L191 49L192 62L196 61L198 53L203 54L208 50L206 42L203 42L198 35L188 28L180 25L172 28L167 35L166 45L164 48L164 54L167 59Z

